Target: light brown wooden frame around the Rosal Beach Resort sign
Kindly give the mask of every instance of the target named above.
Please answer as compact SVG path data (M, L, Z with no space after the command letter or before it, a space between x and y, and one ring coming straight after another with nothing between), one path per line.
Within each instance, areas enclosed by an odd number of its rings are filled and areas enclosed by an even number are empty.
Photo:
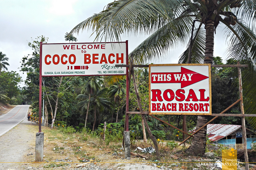
M151 111L151 66L208 66L208 79L209 79L209 113L196 113L196 112L154 112ZM211 99L211 64L149 64L148 70L148 112L150 115L211 115L212 114L212 99Z

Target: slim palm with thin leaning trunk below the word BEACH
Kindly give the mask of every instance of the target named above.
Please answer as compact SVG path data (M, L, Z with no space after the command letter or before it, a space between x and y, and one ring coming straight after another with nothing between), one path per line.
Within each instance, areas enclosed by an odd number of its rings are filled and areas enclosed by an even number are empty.
M79 110L83 111L84 109L86 109L86 118L85 118L84 128L86 128L91 95L94 94L99 89L101 89L100 83L103 83L103 80L100 76L88 76L85 79L86 80L85 80L83 89L81 91L82 94L76 97L77 99L85 99L86 96L88 96L87 100L83 100L78 103Z

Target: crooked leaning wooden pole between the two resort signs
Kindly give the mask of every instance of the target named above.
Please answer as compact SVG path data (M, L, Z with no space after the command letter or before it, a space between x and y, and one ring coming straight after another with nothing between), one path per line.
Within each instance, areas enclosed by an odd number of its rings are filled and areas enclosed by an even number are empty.
M135 78L135 75L134 75L134 72L133 72L133 68L132 68L132 79L133 79L133 86L134 86L135 94L137 96L139 109L140 109L140 111L143 111L141 103L140 103L140 96L139 96L139 91L137 89L137 83L136 83L136 78ZM157 155L157 159L160 160L160 153L159 153L159 149L158 149L157 139L155 139L154 135L151 133L151 130L150 130L148 124L147 124L147 119L146 119L145 115L142 114L141 116L142 116L142 119L144 120L148 135L150 136L152 142L154 143L155 153Z

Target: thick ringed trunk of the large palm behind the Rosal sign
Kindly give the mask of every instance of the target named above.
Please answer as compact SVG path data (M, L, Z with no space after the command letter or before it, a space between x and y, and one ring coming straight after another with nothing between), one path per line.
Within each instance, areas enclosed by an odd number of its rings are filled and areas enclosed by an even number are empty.
M212 63L214 48L214 21L206 21L206 48L204 54L204 63ZM196 129L199 129L207 123L206 116L197 116ZM192 140L188 152L191 154L204 154L206 148L206 131L207 126L197 132Z

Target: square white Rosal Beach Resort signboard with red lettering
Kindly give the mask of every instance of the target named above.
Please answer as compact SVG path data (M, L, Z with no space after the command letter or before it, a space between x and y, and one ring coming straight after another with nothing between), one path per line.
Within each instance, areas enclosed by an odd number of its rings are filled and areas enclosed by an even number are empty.
M150 114L211 115L211 64L150 64Z

